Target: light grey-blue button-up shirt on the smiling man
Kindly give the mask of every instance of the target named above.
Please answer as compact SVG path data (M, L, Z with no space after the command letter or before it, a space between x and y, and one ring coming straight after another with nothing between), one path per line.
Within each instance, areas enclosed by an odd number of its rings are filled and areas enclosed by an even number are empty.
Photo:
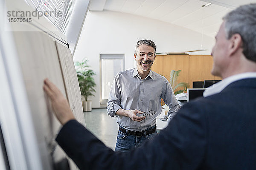
M136 122L127 116L119 116L117 123L125 129L142 131L156 124L156 117L161 113L161 98L169 106L169 118L175 116L180 106L168 80L160 74L150 71L145 79L141 79L137 68L120 71L116 74L108 98L108 114L115 115L118 109L156 113ZM141 114L137 113L137 116Z

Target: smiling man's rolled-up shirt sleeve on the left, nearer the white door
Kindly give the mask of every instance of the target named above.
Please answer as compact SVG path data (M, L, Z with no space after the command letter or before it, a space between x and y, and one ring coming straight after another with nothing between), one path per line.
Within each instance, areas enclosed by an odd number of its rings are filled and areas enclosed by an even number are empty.
M118 80L119 74L116 74L116 77L113 80L110 94L108 98L108 104L107 104L107 110L108 114L110 116L115 116L116 111L118 111L121 106L121 91L119 87L119 80ZM116 115L117 116L117 115Z

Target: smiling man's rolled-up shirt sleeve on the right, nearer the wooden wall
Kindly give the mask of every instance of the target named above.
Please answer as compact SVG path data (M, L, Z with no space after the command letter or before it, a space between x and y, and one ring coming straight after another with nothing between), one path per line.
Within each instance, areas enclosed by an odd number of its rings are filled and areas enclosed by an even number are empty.
M163 89L163 95L162 95L163 101L166 103L166 105L168 105L168 107L170 108L168 111L168 123L170 122L170 120L177 114L177 112L180 109L180 105L177 102L177 99L174 95L174 92L172 90L172 86L171 84L168 82L168 80L166 79L166 86L164 86Z

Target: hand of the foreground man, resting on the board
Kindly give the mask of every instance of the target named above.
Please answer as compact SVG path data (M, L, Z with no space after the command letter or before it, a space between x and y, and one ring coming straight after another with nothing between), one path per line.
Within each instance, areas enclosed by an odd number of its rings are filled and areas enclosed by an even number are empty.
M47 93L52 101L52 109L55 112L55 116L61 122L62 125L75 119L67 99L61 94L61 91L49 80L44 79L44 91Z

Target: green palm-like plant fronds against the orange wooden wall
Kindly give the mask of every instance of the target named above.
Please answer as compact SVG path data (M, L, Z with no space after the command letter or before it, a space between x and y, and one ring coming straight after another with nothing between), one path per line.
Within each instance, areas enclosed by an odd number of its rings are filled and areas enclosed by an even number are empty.
M172 85L172 89L175 95L183 93L183 91L186 91L187 88L189 87L189 84L186 82L180 82L179 84L177 83L180 71L181 70L172 70L170 73L170 83Z

